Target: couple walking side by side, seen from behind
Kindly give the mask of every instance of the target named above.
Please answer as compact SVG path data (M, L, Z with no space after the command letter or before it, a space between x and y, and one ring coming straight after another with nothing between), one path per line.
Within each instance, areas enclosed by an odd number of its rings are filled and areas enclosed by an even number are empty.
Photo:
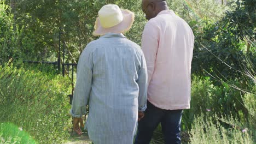
M94 35L101 37L79 58L71 115L74 130L82 134L78 122L89 104L86 127L95 144L131 144L135 135L135 143L149 143L159 123L166 143L181 143L194 35L166 1L143 0L142 10L149 20L142 49L123 34L135 15L109 4L95 23Z

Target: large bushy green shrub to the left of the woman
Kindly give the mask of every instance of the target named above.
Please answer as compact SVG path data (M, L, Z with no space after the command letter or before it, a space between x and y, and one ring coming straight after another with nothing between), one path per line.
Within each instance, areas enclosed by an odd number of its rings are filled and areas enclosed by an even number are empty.
M39 143L66 139L71 86L67 78L14 67L0 68L0 77L1 123L18 125Z

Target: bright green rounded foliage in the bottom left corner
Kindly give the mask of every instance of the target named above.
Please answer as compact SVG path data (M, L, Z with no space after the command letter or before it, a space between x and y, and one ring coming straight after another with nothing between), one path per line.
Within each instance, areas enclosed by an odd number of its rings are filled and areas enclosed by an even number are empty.
M11 123L0 124L0 139L0 143L3 144L36 143L22 128Z

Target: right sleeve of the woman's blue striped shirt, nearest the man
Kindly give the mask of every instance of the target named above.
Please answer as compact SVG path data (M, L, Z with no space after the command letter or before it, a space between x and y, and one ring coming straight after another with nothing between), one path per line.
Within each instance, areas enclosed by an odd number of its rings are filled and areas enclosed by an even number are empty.
M141 69L138 72L139 96L138 96L138 111L145 111L147 109L147 89L148 89L148 75L146 59L142 53Z

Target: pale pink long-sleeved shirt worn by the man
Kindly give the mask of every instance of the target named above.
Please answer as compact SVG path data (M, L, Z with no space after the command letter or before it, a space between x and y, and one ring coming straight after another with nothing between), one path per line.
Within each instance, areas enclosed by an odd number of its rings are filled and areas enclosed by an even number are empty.
M148 67L148 100L165 110L190 108L194 34L171 10L150 19L142 35Z

